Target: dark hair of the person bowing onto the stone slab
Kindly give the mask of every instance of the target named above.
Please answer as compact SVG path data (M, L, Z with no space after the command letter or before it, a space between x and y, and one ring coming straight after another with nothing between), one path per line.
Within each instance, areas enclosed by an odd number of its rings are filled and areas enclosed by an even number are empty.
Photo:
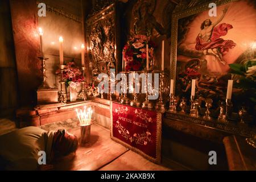
M52 143L54 158L59 158L75 152L78 148L78 144L79 142L75 135L69 135L66 130L56 131Z

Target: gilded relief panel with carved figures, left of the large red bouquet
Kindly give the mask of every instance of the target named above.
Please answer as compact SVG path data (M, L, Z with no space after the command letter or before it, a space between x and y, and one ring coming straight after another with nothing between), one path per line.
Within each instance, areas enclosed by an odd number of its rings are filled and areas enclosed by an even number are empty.
M92 80L98 82L98 74L110 76L110 69L115 69L114 4L91 16L86 24Z

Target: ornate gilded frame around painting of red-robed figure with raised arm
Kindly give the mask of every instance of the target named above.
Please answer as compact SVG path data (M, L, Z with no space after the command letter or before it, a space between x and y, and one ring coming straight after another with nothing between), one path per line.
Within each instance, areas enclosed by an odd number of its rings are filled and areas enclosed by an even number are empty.
M177 61L177 36L178 36L178 21L181 18L191 16L200 13L205 10L209 10L209 3L215 3L217 6L225 5L226 3L236 2L239 0L218 0L218 1L197 1L192 0L187 3L187 1L181 1L175 8L172 14L172 28L171 28L171 60L170 60L170 77L176 80L176 61ZM174 81L175 88L175 81ZM175 94L175 90L174 90Z

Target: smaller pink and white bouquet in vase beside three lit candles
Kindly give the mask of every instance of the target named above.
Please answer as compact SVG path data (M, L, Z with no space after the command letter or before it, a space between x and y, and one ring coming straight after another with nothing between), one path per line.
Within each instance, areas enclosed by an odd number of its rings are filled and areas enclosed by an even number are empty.
M59 73L60 69L56 71L56 74ZM63 70L63 81L65 82L65 85L76 88L83 80L84 77L82 76L82 72L80 71L79 67L76 66L75 62L68 62Z

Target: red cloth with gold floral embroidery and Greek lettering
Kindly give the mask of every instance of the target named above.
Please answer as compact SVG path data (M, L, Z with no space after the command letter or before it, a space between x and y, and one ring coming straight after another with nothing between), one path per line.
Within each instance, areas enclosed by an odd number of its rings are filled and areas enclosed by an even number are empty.
M162 115L115 102L110 107L112 139L152 162L160 163Z

